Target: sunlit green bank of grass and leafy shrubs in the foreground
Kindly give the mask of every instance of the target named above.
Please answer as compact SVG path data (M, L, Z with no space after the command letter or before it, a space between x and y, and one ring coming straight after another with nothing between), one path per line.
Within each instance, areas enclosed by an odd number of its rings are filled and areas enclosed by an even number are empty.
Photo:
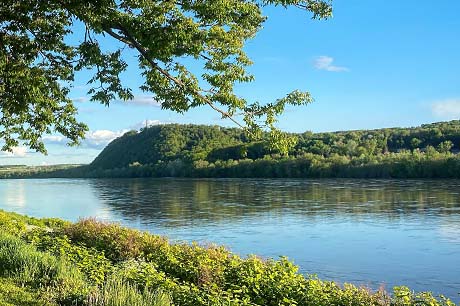
M241 258L172 244L96 220L0 211L0 305L454 305L406 287L393 294L301 275L287 259Z

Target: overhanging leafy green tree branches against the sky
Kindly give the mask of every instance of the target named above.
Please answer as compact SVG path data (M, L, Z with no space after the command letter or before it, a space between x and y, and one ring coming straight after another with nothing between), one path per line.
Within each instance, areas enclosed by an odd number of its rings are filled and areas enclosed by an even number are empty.
M312 98L301 91L268 103L237 96L234 85L253 80L243 47L266 20L262 7L296 6L321 19L332 15L330 1L2 0L2 150L22 142L46 152L41 138L53 132L77 144L87 126L76 120L77 109L69 98L75 73L94 71L88 81L92 101L108 105L132 99L132 89L121 78L128 66L123 52L131 49L142 72L141 90L162 108L182 113L208 105L252 136L269 129L271 143L286 152L292 139L276 129L276 117L287 104L306 104ZM85 31L76 31L76 24L83 24ZM110 50L100 43L102 37L113 40ZM198 61L204 73L194 74L184 58Z

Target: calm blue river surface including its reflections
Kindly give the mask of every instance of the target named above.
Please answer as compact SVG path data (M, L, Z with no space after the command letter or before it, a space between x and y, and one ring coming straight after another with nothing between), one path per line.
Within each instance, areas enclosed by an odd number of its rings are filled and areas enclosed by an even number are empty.
M0 209L93 216L243 256L285 255L322 279L460 302L458 180L0 180Z

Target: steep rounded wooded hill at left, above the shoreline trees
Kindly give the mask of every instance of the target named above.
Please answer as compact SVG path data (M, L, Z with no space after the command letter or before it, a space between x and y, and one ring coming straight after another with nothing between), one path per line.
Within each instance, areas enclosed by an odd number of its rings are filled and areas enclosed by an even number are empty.
M207 159L217 149L247 142L239 129L203 125L158 125L131 131L112 141L91 163L113 169L133 164Z

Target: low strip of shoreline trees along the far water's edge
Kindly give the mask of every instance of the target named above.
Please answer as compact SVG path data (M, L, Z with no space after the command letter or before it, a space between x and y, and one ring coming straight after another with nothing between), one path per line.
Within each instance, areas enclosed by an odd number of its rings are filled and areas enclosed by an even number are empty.
M87 167L73 170L72 175L85 177L460 178L460 156L437 151L404 151L362 157L324 157L307 153L301 157L198 160L191 164L174 160L112 169Z

